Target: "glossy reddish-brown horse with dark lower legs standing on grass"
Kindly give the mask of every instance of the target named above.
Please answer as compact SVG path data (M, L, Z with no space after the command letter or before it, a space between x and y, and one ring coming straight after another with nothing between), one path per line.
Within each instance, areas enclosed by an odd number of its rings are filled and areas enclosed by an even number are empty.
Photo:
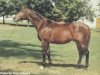
M38 38L42 43L43 66L46 64L46 56L48 57L49 64L52 64L49 49L50 43L66 44L74 41L79 52L77 66L81 66L82 57L85 55L85 67L88 67L90 29L86 24L78 21L55 22L28 8L22 9L15 15L13 20L15 22L29 20L36 28Z

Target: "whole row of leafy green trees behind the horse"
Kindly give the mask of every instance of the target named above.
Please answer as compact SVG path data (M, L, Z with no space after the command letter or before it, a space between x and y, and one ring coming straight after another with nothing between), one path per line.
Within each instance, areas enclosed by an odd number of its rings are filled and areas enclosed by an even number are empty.
M0 0L0 16L16 14L27 6L55 21L93 21L94 10L90 0Z

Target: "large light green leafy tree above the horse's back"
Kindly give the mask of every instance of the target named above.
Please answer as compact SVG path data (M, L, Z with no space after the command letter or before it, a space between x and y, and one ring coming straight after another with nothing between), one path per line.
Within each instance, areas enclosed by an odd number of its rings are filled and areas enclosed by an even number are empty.
M55 5L61 12L61 19L65 21L77 21L86 18L93 21L94 11L90 0L55 0Z

